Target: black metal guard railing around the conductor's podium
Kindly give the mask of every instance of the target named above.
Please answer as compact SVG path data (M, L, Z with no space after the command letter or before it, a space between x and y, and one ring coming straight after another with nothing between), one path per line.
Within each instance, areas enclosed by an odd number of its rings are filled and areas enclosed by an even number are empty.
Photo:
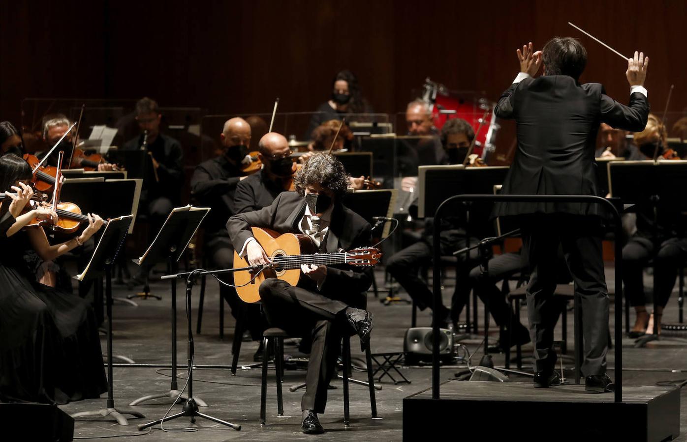
M444 212L449 207L451 201L510 201L510 202L538 202L538 203L592 203L600 204L600 206L607 206L609 212L613 216L615 223L615 254L613 260L616 267L616 295L615 295L615 402L622 402L622 224L620 222L620 212L618 208L613 205L609 199L596 197L592 195L455 195L445 199L442 204L436 209L434 213L434 232L433 232L433 258L434 262L440 260L440 233L441 221ZM441 278L440 266L433 266L433 308L436 311L436 306L441 302ZM432 321L432 399L439 399L439 323ZM576 349L577 351L577 349Z

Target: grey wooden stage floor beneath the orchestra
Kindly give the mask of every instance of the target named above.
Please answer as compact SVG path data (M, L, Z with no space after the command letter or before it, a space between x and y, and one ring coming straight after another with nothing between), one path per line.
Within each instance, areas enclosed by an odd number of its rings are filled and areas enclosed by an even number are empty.
M383 286L383 273L377 271L379 286ZM607 280L613 281L612 270L607 273ZM651 279L646 278L651 284ZM450 302L453 293L453 280L447 280L447 288L444 290L444 302ZM155 282L152 285L153 292L161 295L163 299L138 300L138 307L115 303L113 308L114 329L114 353L132 358L136 363L169 364L170 363L170 299L169 284ZM611 291L612 291L612 287ZM115 297L124 297L131 293L124 286L114 286ZM179 284L178 291L178 352L179 364L185 365L186 336L185 336L185 312L183 310L183 290ZM198 305L199 288L194 289L193 308ZM402 294L402 296L407 296ZM676 293L671 297L666 309L666 322L677 322ZM231 347L234 334L234 319L225 308L225 339L220 341L218 337L218 287L208 281L205 294L205 312L203 315L203 333L194 338L196 347L196 365L230 365ZM375 328L372 333L372 352L399 352L403 349L403 334L410 326L411 307L405 304L383 306L374 299L370 293L370 310L375 313ZM480 324L482 321L482 306L480 305ZM526 314L521 312L523 321ZM613 315L611 315L611 318ZM633 318L631 318L633 321ZM193 321L196 321L196 311L193 312ZM431 317L429 312L418 312L418 326L429 326ZM569 336L572 339L572 312L568 312ZM560 321L556 336L560 335ZM195 324L194 324L195 330ZM497 339L497 330L492 327L491 341ZM462 341L471 352L474 352L482 341L482 336L471 336ZM105 349L104 339L103 350ZM633 341L624 339L624 380L626 384L655 385L656 382L679 380L687 378L687 339L667 338L653 342L646 348L634 348ZM354 358L361 358L359 345L352 345ZM572 344L571 344L572 347ZM251 363L257 343L244 342L241 349L240 361L243 364ZM523 347L523 353L528 355L531 345ZM570 349L572 355L572 348ZM285 354L300 356L297 348L286 345ZM476 365L482 357L482 349L473 356L472 363ZM503 365L504 356L494 356L496 365ZM526 359L526 366L531 360ZM572 367L572 360L565 360L566 367ZM613 355L609 352L609 368L613 367ZM451 380L455 373L464 370L464 367L442 367L441 380ZM673 371L678 370L678 371ZM198 432L168 433L161 430L153 430L143 435L140 439L146 441L286 441L313 439L318 441L400 441L402 439L403 426L403 398L418 393L431 386L431 370L429 367L414 367L402 369L403 374L412 381L412 384L394 385L385 379L382 382L383 389L376 391L377 407L380 419L370 418L370 401L368 391L364 386L350 386L350 416L352 425L346 429L343 427L343 401L341 381L333 382L337 389L330 390L327 413L320 415L322 425L327 430L325 434L317 437L307 437L300 432L300 398L302 390L290 392L288 387L304 382L305 371L287 370L284 380L284 412L289 417L277 417L276 391L273 387L273 371L270 373L271 388L268 389L267 401L267 426L260 427L258 418L260 414L260 371L240 370L237 376L231 376L228 369L198 369L194 371L194 394L207 402L207 408L201 411L220 419L240 423L242 430L235 431L218 426L210 421L199 419L194 428ZM131 368L115 367L114 392L115 405L118 408L126 408L129 402L142 395L164 393L170 386L168 377L170 369L155 368ZM571 373L570 371L568 373ZM610 371L609 374L613 375ZM354 373L354 378L363 379L365 373ZM511 375L511 380L529 382L523 376ZM179 371L179 387L183 385L185 373ZM451 382L462 384L463 382ZM460 386L460 385L458 385ZM523 386L526 388L526 386ZM567 387L566 387L567 388ZM104 408L105 400L84 400L61 406L67 413L76 413L82 410L97 410ZM687 389L681 392L682 402L687 402ZM129 426L117 426L112 421L96 418L83 418L76 421L75 437L106 437L115 434L138 434L136 425L152 421L162 417L170 406L170 400L155 400L150 405L137 406L136 410L146 415L146 419L131 419ZM180 410L180 406L174 406L172 413ZM493 417L498 421L498 417ZM168 423L166 428L179 428L189 426L188 418L181 418ZM687 441L687 407L682 406L681 413L682 435L677 441ZM447 424L442 422L427 422L436 428ZM523 422L523 424L526 424ZM561 419L562 430L565 425L573 425L572 419ZM451 425L455 429L455 426ZM456 430L457 431L457 430ZM456 433L460 434L459 432ZM114 439L126 440L126 439Z

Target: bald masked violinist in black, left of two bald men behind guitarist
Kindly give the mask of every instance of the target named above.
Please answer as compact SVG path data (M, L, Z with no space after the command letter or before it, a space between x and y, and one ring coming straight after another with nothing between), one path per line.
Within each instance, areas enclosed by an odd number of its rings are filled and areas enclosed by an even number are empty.
M229 119L224 123L220 140L222 154L196 167L191 177L191 197L200 206L211 209L203 221L203 253L217 269L229 269L234 265L234 247L225 224L237 213L234 206L236 186L247 178L241 167L251 143L251 127L242 118ZM234 284L232 275L224 273L219 278ZM263 329L259 306L241 302L233 287L219 284L219 291L232 308L234 318L246 324L254 341L260 341ZM235 339L241 339L241 336L235 336ZM256 357L262 357L260 349Z

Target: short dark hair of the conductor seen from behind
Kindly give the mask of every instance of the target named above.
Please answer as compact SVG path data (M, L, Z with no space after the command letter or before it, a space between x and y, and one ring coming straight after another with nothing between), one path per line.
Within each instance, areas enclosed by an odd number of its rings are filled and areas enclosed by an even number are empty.
M570 75L575 81L587 66L587 49L572 37L554 37L542 49L546 75Z

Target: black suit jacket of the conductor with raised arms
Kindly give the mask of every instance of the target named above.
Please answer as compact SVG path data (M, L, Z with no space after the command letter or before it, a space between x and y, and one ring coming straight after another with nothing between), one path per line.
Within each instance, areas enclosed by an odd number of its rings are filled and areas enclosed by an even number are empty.
M600 123L640 132L649 116L641 93L624 106L598 83L578 84L567 75L523 79L508 88L495 108L517 123L517 151L503 195L599 195L594 151ZM598 214L598 204L499 203L495 215L563 212Z

